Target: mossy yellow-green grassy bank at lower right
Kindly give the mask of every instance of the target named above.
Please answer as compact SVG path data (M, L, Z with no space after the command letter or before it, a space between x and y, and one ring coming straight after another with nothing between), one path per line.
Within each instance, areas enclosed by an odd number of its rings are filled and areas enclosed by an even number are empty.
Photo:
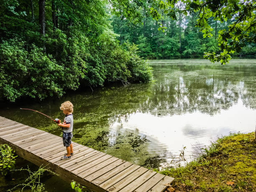
M219 138L185 167L161 174L174 177L168 191L247 192L256 189L255 133Z

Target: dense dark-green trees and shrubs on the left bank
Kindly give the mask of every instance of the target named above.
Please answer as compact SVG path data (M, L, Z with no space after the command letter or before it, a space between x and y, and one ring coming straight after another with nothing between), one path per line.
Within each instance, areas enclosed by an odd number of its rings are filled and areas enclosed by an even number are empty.
M0 5L0 100L42 100L105 82L148 82L136 46L120 46L100 0Z

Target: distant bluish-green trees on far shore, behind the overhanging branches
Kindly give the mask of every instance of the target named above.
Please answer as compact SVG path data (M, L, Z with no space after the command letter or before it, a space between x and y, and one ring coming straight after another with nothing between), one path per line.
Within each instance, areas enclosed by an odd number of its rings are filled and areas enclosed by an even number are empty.
M231 19L220 22L211 17L208 23L213 28L213 36L204 38L200 28L196 27L198 13L180 14L177 20L163 13L160 22L165 27L164 32L159 31L157 21L145 10L142 10L142 15L142 23L136 25L114 15L112 25L114 32L120 34L118 40L121 44L127 41L137 44L139 55L147 59L202 58L205 52L218 52L218 31L228 29L232 23ZM239 53L231 56L254 57L255 54L256 44L246 44Z

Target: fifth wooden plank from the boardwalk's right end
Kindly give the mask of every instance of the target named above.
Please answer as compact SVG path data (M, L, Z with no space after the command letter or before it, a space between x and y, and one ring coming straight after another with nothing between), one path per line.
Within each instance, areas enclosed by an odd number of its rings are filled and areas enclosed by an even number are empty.
M133 164L133 165L129 166L127 169L123 170L122 172L116 174L114 177L111 177L107 181L103 182L99 186L102 187L103 189L107 190L109 187L113 186L114 184L116 184L117 182L119 182L120 180L125 178L126 176L132 174L133 172L140 173L141 169L139 170L139 172L137 171L138 169L140 169L140 166ZM143 174L143 173L141 173L141 174ZM126 183L129 184L129 180L127 180Z

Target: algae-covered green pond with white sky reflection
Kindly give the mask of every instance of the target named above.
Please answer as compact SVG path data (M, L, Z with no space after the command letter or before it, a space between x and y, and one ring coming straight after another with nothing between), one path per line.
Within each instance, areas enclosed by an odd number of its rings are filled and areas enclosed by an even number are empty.
M154 81L67 93L61 99L4 106L0 116L61 136L50 119L74 105L73 141L146 167L168 166L185 148L187 160L230 132L256 123L256 60L152 60Z

